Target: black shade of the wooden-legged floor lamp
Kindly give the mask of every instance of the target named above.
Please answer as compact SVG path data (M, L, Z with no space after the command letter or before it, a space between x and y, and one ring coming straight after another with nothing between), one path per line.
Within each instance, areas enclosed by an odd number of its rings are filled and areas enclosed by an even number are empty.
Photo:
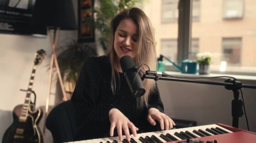
M76 30L76 18L71 0L36 0L32 26Z

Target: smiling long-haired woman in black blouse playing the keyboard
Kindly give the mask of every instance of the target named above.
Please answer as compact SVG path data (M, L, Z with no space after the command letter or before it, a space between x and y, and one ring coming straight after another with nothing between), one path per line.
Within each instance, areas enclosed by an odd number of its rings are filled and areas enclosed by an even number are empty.
M124 133L130 141L130 133L136 136L137 132L157 130L156 121L162 130L175 125L163 113L154 80L143 81L146 93L142 97L131 96L120 66L120 58L125 55L131 56L136 65L156 69L153 29L147 15L138 8L114 17L106 55L89 58L81 70L71 98L79 126L78 140L118 135L121 141ZM143 66L142 71L146 71Z

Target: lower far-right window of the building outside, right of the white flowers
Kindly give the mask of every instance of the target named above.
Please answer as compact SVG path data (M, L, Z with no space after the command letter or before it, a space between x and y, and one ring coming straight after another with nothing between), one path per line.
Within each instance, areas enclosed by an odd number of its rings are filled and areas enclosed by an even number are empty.
M240 66L242 38L223 38L223 61L229 66Z

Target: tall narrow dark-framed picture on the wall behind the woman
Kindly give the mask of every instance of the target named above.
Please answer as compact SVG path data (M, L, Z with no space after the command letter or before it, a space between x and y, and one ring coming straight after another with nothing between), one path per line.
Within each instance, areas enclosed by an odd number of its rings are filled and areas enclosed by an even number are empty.
M78 42L94 42L92 26L94 0L78 0Z

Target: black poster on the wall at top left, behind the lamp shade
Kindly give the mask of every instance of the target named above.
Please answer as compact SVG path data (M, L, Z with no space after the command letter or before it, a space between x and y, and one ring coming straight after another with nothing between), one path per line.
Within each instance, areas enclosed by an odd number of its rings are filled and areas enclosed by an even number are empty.
M35 1L0 0L0 33L46 35L46 29L34 29L30 24Z

